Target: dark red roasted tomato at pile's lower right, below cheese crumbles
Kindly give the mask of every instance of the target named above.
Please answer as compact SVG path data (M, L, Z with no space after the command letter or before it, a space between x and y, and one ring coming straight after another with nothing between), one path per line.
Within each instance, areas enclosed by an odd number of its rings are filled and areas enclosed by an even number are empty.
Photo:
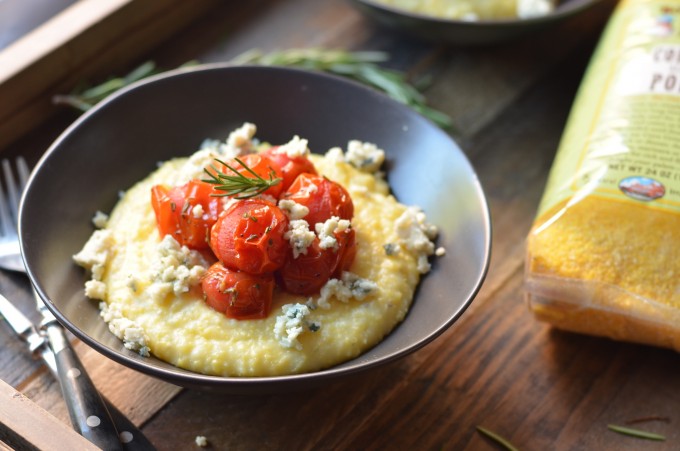
M336 232L337 249L322 249L319 238L307 248L306 254L293 257L289 252L286 264L278 271L281 287L292 294L309 296L321 290L331 277L339 278L347 271L356 255L354 229Z

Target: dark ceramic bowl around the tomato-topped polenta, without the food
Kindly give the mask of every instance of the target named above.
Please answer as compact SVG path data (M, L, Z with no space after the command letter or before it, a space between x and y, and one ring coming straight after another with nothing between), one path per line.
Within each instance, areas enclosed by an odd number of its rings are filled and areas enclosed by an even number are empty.
M214 377L126 350L83 294L85 275L72 262L93 231L97 210L162 160L186 156L204 138L224 139L244 121L257 136L287 142L294 134L313 151L349 139L387 153L396 197L420 205L439 226L438 258L405 321L361 357L308 374ZM458 146L411 109L364 86L293 69L221 65L173 71L121 91L80 117L49 148L22 199L20 236L29 276L70 331L111 359L174 384L232 393L309 387L393 361L440 335L463 313L489 264L490 220L479 181Z

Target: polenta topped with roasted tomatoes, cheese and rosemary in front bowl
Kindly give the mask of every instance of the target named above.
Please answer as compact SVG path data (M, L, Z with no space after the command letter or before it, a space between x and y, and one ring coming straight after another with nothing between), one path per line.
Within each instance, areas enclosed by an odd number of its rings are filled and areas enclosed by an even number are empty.
M327 368L399 324L443 253L424 214L390 194L375 145L320 156L297 136L268 148L254 134L244 124L165 162L96 216L74 258L128 349L208 375ZM228 185L241 177L261 183Z

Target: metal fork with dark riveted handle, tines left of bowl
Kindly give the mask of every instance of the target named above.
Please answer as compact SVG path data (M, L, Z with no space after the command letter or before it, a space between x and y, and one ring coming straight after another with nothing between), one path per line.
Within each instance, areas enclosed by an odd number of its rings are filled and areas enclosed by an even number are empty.
M16 159L17 176L9 160L2 161L6 193L0 183L0 268L26 273L21 257L17 224L19 201L29 178L29 169L22 157ZM17 180L18 178L18 180ZM102 449L153 449L151 443L120 411L106 402L87 375L64 329L33 292L38 310L43 316L41 330L49 342L56 360L56 376L68 406L73 427ZM51 368L54 370L55 368ZM113 418L115 418L115 425ZM116 425L118 428L116 428ZM121 431L119 437L118 430ZM121 441L123 446L121 446Z

